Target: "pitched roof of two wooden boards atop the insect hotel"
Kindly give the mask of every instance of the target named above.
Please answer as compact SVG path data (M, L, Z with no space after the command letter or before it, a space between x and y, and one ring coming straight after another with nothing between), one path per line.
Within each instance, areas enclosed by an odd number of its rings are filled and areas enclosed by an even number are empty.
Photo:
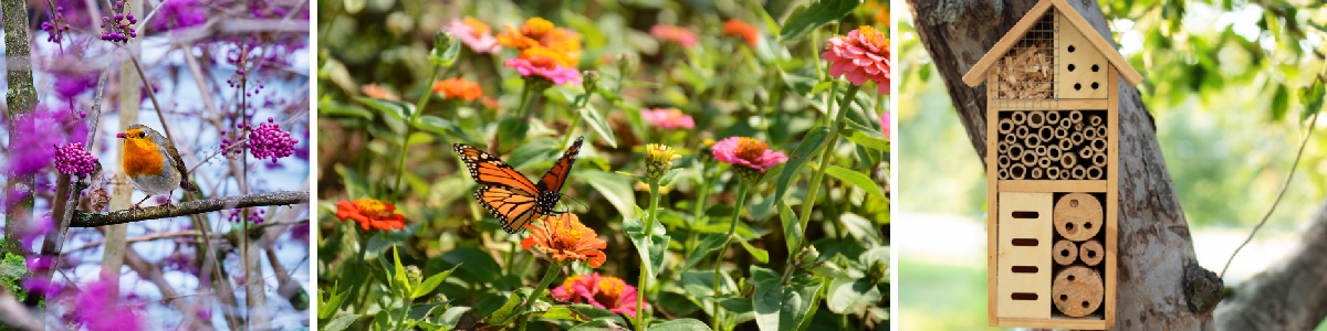
M1024 15L1009 33L1005 33L1005 37L1001 37L999 42L995 42L995 46L993 46L990 52L986 52L986 56L982 56L982 60L977 61L977 65L974 65L973 69L967 70L967 74L963 75L963 82L967 83L967 86L977 86L985 82L986 71L990 70L993 65L999 62L1002 57L1009 54L1010 49L1013 49L1051 8L1058 9L1059 13L1063 15L1064 20L1070 23L1068 26L1072 26L1082 33L1083 37L1088 40L1088 44L1091 44L1092 48L1095 48L1103 57L1105 57L1107 61L1111 62L1111 65L1116 68L1116 70L1120 71L1120 78L1123 78L1124 82L1129 83L1129 86L1136 86L1143 81L1143 74L1139 74L1139 71L1124 60L1124 56L1120 56L1120 52L1116 52L1115 46L1101 37L1101 34L1097 33L1096 29L1093 29L1092 25L1074 9L1074 7L1070 7L1066 0L1042 0L1040 3L1036 3L1036 5L1034 5L1032 9L1028 11L1027 15ZM1062 26L1064 24L1062 24Z

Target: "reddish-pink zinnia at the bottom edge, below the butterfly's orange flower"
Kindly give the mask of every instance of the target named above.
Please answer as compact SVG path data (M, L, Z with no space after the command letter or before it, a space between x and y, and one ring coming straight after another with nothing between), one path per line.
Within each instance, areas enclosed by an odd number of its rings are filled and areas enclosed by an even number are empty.
M553 298L626 314L636 318L636 286L626 285L617 277L602 277L598 273L567 277L561 286L553 289ZM650 305L645 303L645 308Z

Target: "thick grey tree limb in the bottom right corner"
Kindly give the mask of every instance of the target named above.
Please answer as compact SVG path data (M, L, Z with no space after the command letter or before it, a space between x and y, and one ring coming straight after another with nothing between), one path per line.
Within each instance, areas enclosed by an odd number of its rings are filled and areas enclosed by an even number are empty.
M1290 258L1241 283L1216 314L1217 330L1312 330L1327 318L1327 200Z

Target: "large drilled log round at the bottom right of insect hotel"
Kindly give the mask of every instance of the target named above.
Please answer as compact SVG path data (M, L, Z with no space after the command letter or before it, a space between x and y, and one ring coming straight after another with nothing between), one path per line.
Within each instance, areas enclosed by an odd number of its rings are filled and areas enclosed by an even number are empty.
M1105 298L1101 274L1085 266L1070 266L1055 274L1051 302L1066 316L1082 318L1101 307Z

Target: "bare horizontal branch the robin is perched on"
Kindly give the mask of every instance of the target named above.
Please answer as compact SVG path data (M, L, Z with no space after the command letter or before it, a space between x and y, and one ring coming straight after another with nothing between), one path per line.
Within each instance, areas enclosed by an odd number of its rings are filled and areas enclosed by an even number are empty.
M80 211L74 213L73 222L69 224L69 228L96 228L96 226L126 224L143 220L216 212L222 209L238 209L238 208L264 207L264 205L293 205L293 204L308 204L308 203L309 203L309 192L307 191L280 191L280 192L268 192L256 195L214 197L207 200L182 203L175 207L159 205L159 207L143 208L139 211L117 211L109 213L88 213Z

